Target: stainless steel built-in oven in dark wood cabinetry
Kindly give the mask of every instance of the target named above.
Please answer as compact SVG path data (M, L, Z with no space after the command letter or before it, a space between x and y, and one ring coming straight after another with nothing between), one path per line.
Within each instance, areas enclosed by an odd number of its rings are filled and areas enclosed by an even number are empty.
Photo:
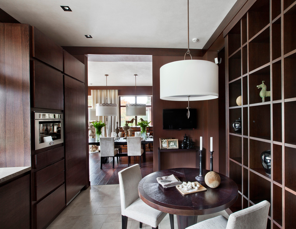
M63 114L34 112L35 150L64 142Z

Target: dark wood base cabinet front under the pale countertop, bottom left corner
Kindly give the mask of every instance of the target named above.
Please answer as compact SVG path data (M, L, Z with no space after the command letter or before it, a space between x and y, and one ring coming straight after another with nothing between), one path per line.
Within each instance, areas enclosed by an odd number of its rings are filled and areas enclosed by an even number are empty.
M30 228L30 174L0 186L0 227Z

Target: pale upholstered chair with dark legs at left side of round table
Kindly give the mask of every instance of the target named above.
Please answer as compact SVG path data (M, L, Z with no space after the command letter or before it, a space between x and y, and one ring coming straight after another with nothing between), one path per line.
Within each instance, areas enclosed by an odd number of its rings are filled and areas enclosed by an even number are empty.
M138 184L142 179L138 164L118 172L122 229L127 228L127 219L132 218L142 223L158 228L161 220L167 213L158 211L145 204L138 195Z

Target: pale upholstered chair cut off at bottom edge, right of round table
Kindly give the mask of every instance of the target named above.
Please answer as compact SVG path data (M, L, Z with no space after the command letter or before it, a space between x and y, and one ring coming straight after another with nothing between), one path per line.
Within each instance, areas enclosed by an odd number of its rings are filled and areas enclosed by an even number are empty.
M185 229L266 229L269 206L270 203L268 201L262 201L230 214L228 220L224 216L217 216Z

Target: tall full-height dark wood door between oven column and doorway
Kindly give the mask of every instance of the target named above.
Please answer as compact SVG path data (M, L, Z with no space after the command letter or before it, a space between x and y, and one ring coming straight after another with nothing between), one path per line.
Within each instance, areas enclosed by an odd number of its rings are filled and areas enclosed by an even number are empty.
M65 76L66 202L88 182L86 166L85 85Z

